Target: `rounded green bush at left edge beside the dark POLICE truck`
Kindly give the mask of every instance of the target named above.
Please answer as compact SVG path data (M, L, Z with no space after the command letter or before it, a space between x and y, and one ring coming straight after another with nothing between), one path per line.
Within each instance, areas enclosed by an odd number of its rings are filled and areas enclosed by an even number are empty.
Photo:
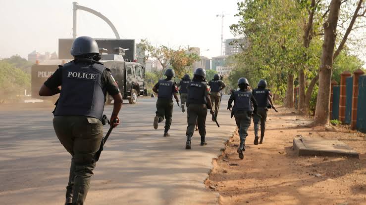
M31 88L30 75L4 60L0 60L0 74L0 102L16 98Z

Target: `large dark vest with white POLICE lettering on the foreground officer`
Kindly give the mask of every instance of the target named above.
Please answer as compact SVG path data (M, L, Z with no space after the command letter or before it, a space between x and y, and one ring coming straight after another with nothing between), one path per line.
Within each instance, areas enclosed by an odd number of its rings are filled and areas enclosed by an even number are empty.
M102 119L106 90L102 88L105 66L71 61L62 67L61 93L55 116L80 115Z

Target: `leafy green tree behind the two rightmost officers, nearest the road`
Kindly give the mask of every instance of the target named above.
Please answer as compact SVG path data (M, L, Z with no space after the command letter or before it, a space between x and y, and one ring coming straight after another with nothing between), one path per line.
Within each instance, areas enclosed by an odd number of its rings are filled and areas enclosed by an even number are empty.
M245 0L238 7L240 20L230 28L249 42L242 46L246 47L246 65L241 70L253 73L255 81L266 79L280 93L287 91L285 106L293 107L293 92L289 90L294 82L288 79L293 79L301 66L302 13L293 0Z

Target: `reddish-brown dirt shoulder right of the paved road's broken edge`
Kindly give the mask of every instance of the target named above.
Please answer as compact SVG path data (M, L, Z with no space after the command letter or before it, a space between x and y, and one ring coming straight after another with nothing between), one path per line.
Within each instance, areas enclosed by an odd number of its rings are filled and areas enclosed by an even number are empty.
M366 205L365 135L341 128L326 131L302 127L309 119L294 110L268 112L264 144L254 145L253 122L244 160L236 149L236 132L226 150L213 162L205 181L219 193L221 205ZM297 157L296 135L338 139L360 153L360 159Z

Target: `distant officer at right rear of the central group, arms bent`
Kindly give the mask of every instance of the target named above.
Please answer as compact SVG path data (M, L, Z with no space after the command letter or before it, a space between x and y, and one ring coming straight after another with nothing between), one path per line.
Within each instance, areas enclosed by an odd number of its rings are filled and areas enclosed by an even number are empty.
M220 80L220 76L218 74L215 74L213 79L209 81L209 86L211 88L211 102L215 111L215 117L217 119L218 109L220 108L221 101L221 90L226 87L226 84ZM213 117L212 121L214 121Z

